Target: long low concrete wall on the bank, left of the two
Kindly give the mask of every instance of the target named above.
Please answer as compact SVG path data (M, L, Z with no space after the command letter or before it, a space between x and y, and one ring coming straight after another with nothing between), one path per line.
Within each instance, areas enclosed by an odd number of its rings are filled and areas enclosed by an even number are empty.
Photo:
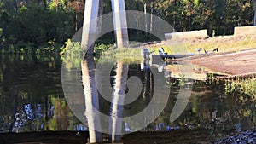
M172 32L172 33L166 33L165 37L166 37L166 40L175 39L175 38L182 38L182 39L207 38L207 30L189 31L189 32Z

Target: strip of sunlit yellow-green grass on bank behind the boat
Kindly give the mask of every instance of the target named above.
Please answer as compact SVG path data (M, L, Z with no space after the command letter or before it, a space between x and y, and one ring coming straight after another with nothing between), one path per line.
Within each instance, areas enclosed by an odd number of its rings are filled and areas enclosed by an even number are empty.
M211 52L212 49L218 48L219 52L241 51L243 49L256 48L255 37L210 37L207 39L179 40L158 46L150 46L150 51L158 54L158 48L162 46L168 54L197 53L196 48L206 49Z

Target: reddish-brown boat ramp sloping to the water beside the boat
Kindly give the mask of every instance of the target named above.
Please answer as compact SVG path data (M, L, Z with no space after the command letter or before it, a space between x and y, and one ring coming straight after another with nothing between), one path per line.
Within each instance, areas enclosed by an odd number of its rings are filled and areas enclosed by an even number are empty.
M218 72L239 76L256 73L255 57L256 48L225 55L201 57L191 62Z

